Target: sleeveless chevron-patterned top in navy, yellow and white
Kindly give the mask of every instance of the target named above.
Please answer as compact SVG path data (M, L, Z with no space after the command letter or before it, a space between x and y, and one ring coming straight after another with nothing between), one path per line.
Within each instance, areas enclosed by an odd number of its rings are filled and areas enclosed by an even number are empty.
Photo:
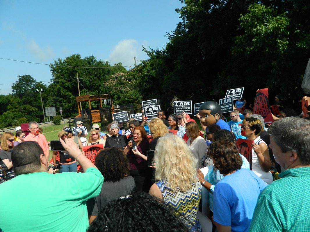
M199 202L201 199L201 184L199 181L192 183L192 189L186 192L172 191L164 182L158 181L157 186L162 192L166 204L175 208L188 221L185 224L191 231L201 231L200 223L197 218Z

